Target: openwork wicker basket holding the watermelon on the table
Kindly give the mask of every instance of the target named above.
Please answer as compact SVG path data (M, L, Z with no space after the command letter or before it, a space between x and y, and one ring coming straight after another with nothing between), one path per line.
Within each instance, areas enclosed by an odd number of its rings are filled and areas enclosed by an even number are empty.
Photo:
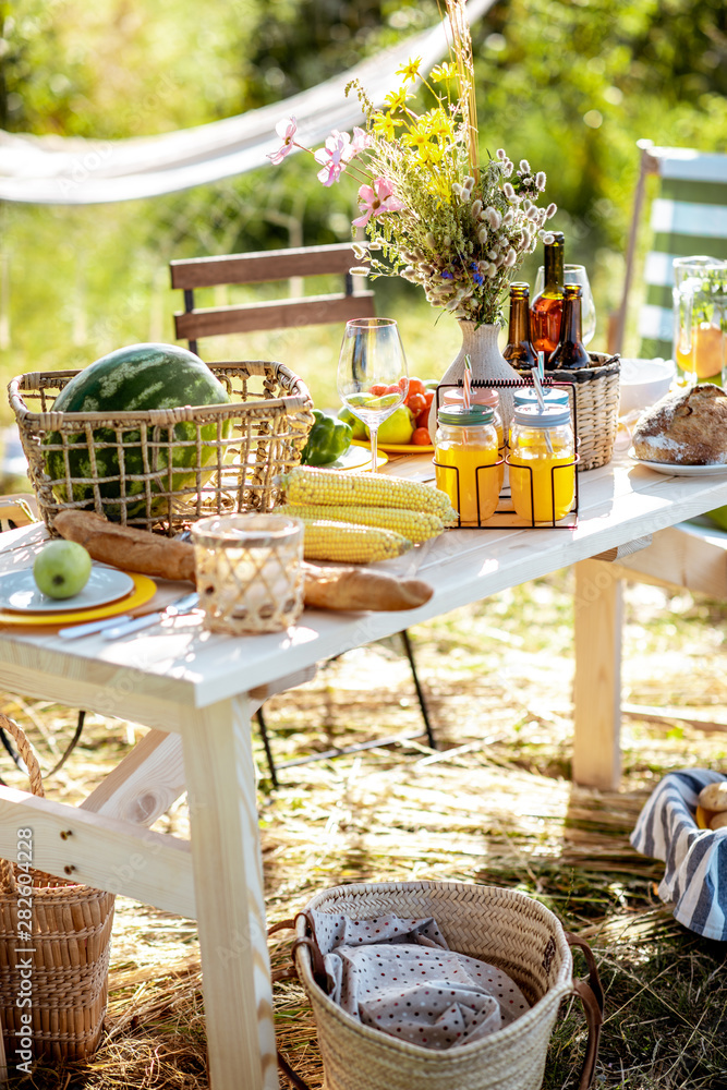
M209 366L230 403L112 415L52 411L77 372L14 378L10 403L46 525L83 508L171 534L206 514L271 510L276 477L300 462L313 425L307 388L280 363Z

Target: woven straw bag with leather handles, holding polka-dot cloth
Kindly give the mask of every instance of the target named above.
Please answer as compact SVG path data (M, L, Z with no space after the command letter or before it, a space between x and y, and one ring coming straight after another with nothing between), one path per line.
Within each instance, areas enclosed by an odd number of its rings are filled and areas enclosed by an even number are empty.
M435 1052L362 1025L316 982L319 952L306 913L375 919L434 917L451 949L508 973L532 1004L517 1021L482 1041ZM278 924L278 928L286 924ZM287 921L290 925L290 921ZM337 886L314 897L295 919L293 957L313 1007L326 1090L540 1090L550 1034L562 1000L578 994L589 1020L589 1045L579 1080L593 1080L603 993L587 945L568 935L538 901L514 889L459 882ZM589 982L573 980L571 945L582 946ZM293 1085L305 1083L279 1057Z

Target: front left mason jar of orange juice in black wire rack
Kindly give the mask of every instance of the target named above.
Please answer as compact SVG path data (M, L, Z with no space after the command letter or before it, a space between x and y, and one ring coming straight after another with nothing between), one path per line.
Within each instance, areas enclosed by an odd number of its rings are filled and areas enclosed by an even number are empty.
M437 488L446 492L463 525L478 525L497 507L504 463L493 410L484 405L448 404L438 413L435 440ZM477 508L478 501L478 508Z

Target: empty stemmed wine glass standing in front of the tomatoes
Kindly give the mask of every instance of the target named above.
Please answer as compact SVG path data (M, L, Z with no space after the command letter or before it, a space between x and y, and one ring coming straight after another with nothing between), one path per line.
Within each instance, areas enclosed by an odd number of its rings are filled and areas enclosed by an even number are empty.
M338 392L347 409L368 427L372 473L377 469L379 424L403 404L408 391L407 359L393 318L347 322Z

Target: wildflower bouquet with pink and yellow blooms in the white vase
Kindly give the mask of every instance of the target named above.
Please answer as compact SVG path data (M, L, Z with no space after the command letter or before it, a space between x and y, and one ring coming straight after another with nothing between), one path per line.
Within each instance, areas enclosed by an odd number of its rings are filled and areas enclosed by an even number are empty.
M480 165L472 41L464 0L446 0L452 32L451 59L428 76L419 59L398 71L402 84L376 109L365 89L359 94L365 129L334 132L315 153L324 185L344 170L359 175L361 215L368 245L356 256L366 265L353 272L401 276L420 284L434 306L476 326L501 323L502 303L514 272L556 206L540 208L545 174L505 150ZM423 87L433 105L415 112L414 90ZM294 119L282 122L280 161L295 144Z

